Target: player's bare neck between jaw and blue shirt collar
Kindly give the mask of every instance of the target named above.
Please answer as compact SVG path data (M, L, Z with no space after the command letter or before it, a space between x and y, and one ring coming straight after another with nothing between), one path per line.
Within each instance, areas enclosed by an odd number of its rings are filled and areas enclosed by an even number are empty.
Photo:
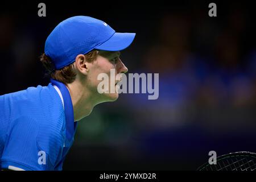
M71 95L74 120L79 121L92 112L92 109L97 102L93 100L90 90L80 85L79 82L74 81L72 84L66 84L66 86Z

